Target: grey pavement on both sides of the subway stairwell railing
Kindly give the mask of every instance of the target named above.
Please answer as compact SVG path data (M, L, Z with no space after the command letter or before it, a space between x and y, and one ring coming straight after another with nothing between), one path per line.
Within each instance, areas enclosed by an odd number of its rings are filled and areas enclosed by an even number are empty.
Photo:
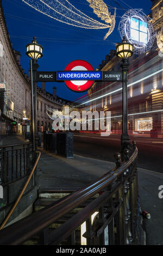
M10 136L2 144L26 142L24 136ZM73 159L49 153L42 148L37 165L38 186L42 190L57 188L79 189L89 185L110 169L115 163L74 155ZM163 186L163 174L138 168L139 197L141 209L151 214L151 219L143 218L146 245L163 245L163 198L159 198L159 186ZM162 193L163 194L163 193Z

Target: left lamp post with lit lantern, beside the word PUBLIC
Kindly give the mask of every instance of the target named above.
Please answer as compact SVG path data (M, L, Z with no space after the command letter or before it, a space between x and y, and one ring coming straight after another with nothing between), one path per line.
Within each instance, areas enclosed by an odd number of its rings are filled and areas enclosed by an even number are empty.
M30 57L30 74L31 74L31 97L32 97L32 138L33 138L33 150L35 151L37 138L37 82L36 81L36 71L39 68L37 64L37 59L43 56L42 46L37 44L36 38L34 36L32 42L27 46L27 56Z

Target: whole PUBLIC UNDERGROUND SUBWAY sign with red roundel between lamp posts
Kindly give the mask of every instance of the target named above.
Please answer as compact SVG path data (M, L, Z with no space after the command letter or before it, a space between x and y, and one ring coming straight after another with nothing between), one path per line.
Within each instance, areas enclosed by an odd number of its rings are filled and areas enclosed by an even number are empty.
M92 65L85 60L74 60L69 63L64 71L37 71L37 82L65 82L73 92L89 90L93 82L123 81L122 72L95 71Z

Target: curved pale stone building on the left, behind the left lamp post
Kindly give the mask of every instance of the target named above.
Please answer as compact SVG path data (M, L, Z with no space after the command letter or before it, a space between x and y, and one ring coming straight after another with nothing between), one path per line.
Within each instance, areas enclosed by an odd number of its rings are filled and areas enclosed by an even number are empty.
M31 90L30 79L21 66L21 54L12 48L10 36L0 1L0 135L22 134L30 124ZM52 120L48 118L45 105L61 109L67 103L56 95L47 93L45 84L37 87L37 130L50 130Z

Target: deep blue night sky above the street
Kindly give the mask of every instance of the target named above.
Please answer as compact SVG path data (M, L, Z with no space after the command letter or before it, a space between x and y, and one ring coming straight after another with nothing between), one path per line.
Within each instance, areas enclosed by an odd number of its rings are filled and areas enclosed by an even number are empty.
M21 65L25 72L28 74L30 61L26 55L26 45L32 41L33 36L36 36L37 42L43 46L43 57L38 60L39 71L64 70L68 63L76 59L86 60L96 70L110 50L115 50L116 42L121 42L117 31L121 16L131 8L143 9L148 15L152 7L150 0L104 2L117 8L115 29L105 41L103 38L108 32L107 28L94 30L72 27L35 11L22 0L2 0L10 39L15 50L21 52ZM101 21L86 0L70 0L70 3L86 15ZM109 11L114 14L114 9ZM86 94L72 92L65 83L47 83L47 92L52 93L53 86L57 87L57 95L67 100L76 100Z

